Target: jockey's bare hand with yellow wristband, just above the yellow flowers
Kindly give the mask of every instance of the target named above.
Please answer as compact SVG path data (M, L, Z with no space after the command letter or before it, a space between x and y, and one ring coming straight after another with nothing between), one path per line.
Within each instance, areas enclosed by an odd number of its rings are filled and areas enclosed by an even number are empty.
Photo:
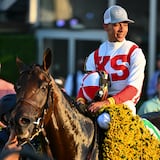
M104 105L109 105L109 101L108 100L104 100L104 101L98 101L98 102L93 102L89 105L88 107L88 111L90 111L91 113L96 113L98 112Z

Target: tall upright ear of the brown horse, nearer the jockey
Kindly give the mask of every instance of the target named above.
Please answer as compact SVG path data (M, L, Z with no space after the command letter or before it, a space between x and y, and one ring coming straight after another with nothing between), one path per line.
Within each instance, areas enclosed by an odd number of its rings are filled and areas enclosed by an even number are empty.
M51 63L52 63L52 52L50 48L47 48L43 55L43 69L45 71L48 71L49 67L51 66Z

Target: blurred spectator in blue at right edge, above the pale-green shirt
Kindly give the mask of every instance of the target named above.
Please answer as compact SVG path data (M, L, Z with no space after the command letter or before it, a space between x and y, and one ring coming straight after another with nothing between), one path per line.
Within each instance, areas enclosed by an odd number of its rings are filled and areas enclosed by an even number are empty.
M148 81L148 87L147 87L147 97L152 98L156 94L156 85L157 85L157 78L160 74L160 54L156 58L156 70L153 73L151 79Z

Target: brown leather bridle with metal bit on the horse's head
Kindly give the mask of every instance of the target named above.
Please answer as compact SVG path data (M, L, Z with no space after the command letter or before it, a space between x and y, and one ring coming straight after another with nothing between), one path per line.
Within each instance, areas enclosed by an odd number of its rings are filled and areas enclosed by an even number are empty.
M26 70L23 70L22 72L20 72L20 76L23 76L25 73L30 73L32 69L34 69L37 65L34 65L34 66L31 66L31 69L26 69ZM40 66L39 66L40 67ZM43 137L44 137L44 140L45 140L45 143L47 145L47 148L49 148L49 152L48 154L51 154L51 151L50 151L50 147L49 147L49 141L46 137L46 131L44 129L44 124L45 124L45 115L47 114L47 111L49 109L49 98L51 98L51 100L53 101L53 89L52 89L52 79L51 79L51 76L49 73L46 73L45 71L43 71L41 68L40 68L40 71L45 75L45 77L48 79L48 83L47 83L47 98L46 98L46 101L43 105L42 110L41 110L41 113L40 113L40 116L36 119L36 121L34 120L31 120L31 123L34 124L34 129L32 131L32 135L26 139L25 141L23 141L22 143L20 143L19 145L23 146L24 144L26 143L29 143L30 144L30 141L38 136L40 133L42 133ZM15 85L15 90L18 91L18 88L21 87L21 86L17 86L17 84ZM41 88L39 88L38 90L34 91L33 95L35 94L38 94L38 92L40 91ZM29 99L26 99L24 98L24 94L22 94L22 96L17 100L16 102L16 106L21 104L21 103L27 103L29 104L30 106L32 106L33 108L35 108L36 110L39 109L40 110L40 107L37 106L36 104L33 103L33 101L29 100ZM51 116L51 114L49 115ZM48 118L48 117L47 117ZM51 156L52 157L52 156ZM52 157L53 158L53 157Z

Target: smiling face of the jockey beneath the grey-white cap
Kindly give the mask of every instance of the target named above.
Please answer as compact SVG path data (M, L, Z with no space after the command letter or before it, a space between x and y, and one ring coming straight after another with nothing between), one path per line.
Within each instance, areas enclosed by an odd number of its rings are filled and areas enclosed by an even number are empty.
M122 42L128 33L128 22L104 24L110 42Z

